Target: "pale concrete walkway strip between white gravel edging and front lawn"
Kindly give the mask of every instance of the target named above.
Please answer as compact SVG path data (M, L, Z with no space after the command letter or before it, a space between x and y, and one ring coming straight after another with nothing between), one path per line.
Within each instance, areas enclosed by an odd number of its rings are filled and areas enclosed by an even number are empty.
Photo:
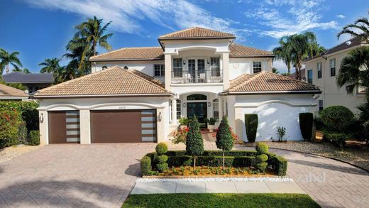
M136 182L131 194L170 193L296 193L295 182Z

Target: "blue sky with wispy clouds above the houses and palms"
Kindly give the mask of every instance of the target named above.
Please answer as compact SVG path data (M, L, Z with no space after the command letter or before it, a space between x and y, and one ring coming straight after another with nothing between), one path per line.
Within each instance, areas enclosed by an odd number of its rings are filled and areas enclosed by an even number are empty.
M158 46L159 35L193 26L231 32L237 43L264 50L272 50L282 35L313 31L319 44L330 48L349 38L337 40L343 26L368 16L369 2L16 0L0 1L0 8L0 48L19 51L23 67L39 72L38 63L60 58L74 26L94 15L112 21L113 49ZM275 67L285 71L280 62Z

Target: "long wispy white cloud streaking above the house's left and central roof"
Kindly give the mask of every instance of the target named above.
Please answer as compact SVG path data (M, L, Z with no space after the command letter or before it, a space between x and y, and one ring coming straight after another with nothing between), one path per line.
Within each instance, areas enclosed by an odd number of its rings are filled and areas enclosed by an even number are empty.
M145 31L143 21L152 21L160 26L175 30L201 26L216 31L234 33L243 39L248 30L233 28L237 24L225 18L214 16L206 9L185 0L23 0L43 9L59 9L80 16L98 16L104 21L112 21L115 31L123 33L150 33Z

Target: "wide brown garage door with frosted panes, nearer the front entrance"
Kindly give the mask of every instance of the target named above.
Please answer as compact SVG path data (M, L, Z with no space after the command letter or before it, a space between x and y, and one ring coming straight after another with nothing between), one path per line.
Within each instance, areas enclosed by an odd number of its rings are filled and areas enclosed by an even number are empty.
M91 111L92 143L156 141L156 110Z

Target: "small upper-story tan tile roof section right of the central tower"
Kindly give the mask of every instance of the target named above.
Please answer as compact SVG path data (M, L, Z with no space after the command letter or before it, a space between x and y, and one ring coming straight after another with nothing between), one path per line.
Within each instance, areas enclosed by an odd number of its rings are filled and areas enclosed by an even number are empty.
M274 56L272 52L267 50L260 50L258 48L251 48L245 45L238 45L236 43L229 45L229 57L253 57L253 56Z

